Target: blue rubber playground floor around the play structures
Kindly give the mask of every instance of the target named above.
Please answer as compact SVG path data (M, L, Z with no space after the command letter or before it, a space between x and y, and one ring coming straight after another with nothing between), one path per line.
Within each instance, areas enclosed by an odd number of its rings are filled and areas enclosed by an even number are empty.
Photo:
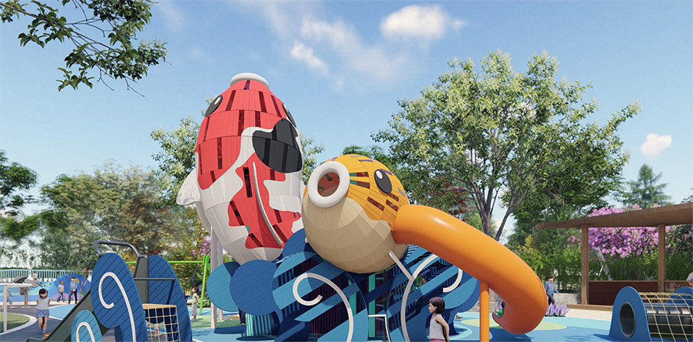
M60 305L51 307L51 318L61 320L72 309L73 305ZM188 307L189 309L189 307ZM228 319L236 312L225 312L225 320L218 322L219 327L231 332L230 334L218 334L209 327L209 309L203 309L198 315L198 320L191 322L193 326L193 339L200 342L216 341L272 341L267 336L243 336L245 327L238 324L238 320ZM234 317L235 318L235 317ZM55 323L51 323L55 324ZM611 322L574 317L545 317L535 330L527 334L510 334L493 322L491 319L491 341L615 341L608 337ZM31 325L27 329L34 329ZM457 314L455 330L458 334L450 336L450 341L479 341L479 314L463 312ZM15 334L13 334L15 335ZM21 335L20 335L21 336ZM3 336L3 342L6 341ZM22 340L24 341L24 340ZM374 340L382 341L382 339Z

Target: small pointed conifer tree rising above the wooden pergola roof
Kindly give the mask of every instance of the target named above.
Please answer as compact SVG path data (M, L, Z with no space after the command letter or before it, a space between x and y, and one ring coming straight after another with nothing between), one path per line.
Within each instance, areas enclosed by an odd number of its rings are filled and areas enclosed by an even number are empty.
M650 208L655 205L669 204L669 196L664 193L666 184L657 184L662 178L662 173L655 176L652 168L647 164L640 166L638 180L629 181L631 187L623 200L624 205L638 205L641 208Z

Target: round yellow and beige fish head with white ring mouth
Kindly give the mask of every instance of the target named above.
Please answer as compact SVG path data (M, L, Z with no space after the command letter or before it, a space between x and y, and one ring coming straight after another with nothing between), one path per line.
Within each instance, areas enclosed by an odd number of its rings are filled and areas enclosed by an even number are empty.
M402 183L382 163L362 155L334 157L308 180L303 213L306 237L315 251L350 272L381 271L402 257L391 228L409 204Z

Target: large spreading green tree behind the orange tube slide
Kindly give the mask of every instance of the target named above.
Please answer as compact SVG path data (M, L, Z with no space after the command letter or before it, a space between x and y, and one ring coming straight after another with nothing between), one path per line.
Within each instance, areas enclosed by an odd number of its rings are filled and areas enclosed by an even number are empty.
M398 168L422 182L444 180L463 189L486 234L491 235L491 215L502 200L507 210L495 233L500 239L527 194L563 176L555 168L561 156L599 146L609 157L623 157L617 128L640 107L626 105L604 125L584 123L597 111L596 101L582 100L590 85L557 80L556 58L534 55L524 73L515 71L502 51L480 64L475 69L471 60L450 62L453 70L423 89L419 99L399 102L402 110L390 128L374 139L389 143Z

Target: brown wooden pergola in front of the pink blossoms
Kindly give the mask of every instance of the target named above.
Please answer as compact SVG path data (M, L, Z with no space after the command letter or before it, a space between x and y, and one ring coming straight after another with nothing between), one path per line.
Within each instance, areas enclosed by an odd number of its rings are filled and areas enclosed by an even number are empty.
M658 291L664 291L664 281L667 275L666 269L666 234L667 225L682 225L693 223L693 203L682 203L678 205L666 205L631 212L620 212L602 216L583 217L581 219L539 223L536 228L581 228L581 255L582 255L582 282L581 296L583 304L588 304L589 287L589 244L588 228L608 228L608 227L657 227L659 234L658 250Z

